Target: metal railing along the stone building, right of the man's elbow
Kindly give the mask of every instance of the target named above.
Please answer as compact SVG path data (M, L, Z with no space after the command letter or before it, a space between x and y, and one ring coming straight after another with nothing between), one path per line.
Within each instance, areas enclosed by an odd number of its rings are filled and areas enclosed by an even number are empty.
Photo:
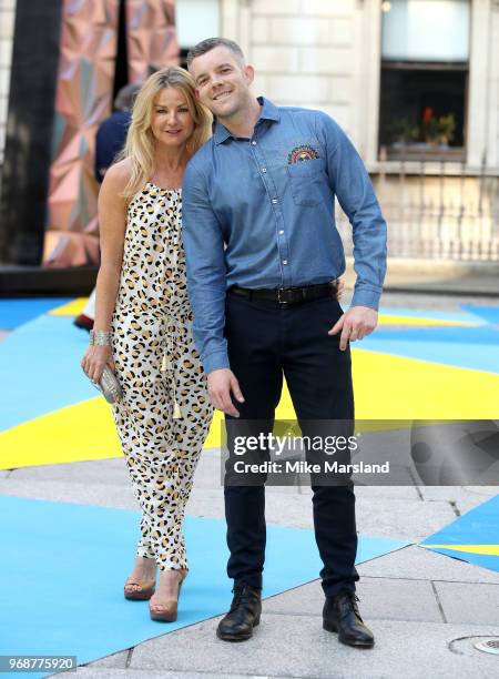
M499 261L499 169L420 158L383 159L373 183L396 257ZM352 253L352 227L337 206L338 229Z

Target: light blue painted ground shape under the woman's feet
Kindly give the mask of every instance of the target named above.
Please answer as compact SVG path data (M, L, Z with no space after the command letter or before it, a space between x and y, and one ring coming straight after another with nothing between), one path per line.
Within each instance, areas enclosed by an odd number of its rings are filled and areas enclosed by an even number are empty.
M69 655L84 663L224 612L232 598L226 526L216 519L186 519L190 574L176 622L154 622L147 601L123 598L139 518L123 509L0 497L8 555L0 560L0 581L8 585L0 655ZM357 563L409 544L359 536ZM317 578L320 567L312 530L267 527L264 596Z

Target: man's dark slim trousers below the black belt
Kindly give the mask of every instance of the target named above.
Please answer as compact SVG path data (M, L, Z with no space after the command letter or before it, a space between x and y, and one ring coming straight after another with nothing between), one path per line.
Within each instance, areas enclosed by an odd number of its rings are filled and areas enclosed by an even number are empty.
M342 352L339 336L327 334L343 313L336 298L279 305L228 293L225 313L231 369L245 398L243 404L234 401L241 418L225 418L227 440L233 440L238 430L247 434L248 420L258 420L264 433L272 432L283 375L303 433L307 420L354 419L349 346ZM353 483L327 486L312 482L312 490L315 538L324 564L320 570L324 592L334 596L342 589L355 591L359 576L355 568ZM228 577L235 584L262 587L265 487L225 484L224 495L231 553Z

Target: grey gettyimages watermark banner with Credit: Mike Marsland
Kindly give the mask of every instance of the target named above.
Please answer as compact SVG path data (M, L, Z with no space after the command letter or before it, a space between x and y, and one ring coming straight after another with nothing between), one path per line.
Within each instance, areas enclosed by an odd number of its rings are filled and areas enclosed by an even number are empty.
M227 419L221 483L497 486L499 420Z

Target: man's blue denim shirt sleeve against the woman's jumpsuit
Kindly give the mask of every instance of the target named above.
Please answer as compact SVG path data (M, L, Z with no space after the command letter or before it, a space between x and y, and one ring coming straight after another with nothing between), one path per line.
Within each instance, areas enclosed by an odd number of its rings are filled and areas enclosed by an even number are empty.
M210 204L206 180L193 162L182 183L182 240L193 337L206 374L230 367L224 337L226 267L224 239Z

